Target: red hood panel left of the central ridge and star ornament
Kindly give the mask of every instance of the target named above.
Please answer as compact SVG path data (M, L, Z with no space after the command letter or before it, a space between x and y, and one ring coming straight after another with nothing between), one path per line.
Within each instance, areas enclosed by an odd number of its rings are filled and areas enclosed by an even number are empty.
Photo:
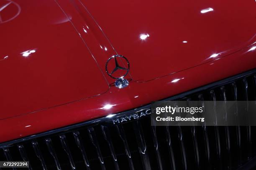
M0 119L109 89L79 33L54 1L0 1Z

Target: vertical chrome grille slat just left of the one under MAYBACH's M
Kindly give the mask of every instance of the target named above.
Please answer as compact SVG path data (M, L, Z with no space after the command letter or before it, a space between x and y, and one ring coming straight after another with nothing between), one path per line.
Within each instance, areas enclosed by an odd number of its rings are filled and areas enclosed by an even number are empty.
M108 127L101 126L101 129L102 129L103 136L104 136L105 140L108 143L108 146L109 146L112 158L113 158L113 162L114 162L114 165L115 165L115 170L119 170L118 160L116 158L115 149L114 149L114 146L113 146L112 139L110 137Z

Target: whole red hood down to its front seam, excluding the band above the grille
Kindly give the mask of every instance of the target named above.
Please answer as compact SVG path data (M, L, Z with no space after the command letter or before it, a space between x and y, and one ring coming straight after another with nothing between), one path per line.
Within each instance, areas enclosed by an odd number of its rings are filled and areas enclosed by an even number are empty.
M130 61L126 78L144 82L256 41L253 0L0 2L0 119L108 91L115 54Z

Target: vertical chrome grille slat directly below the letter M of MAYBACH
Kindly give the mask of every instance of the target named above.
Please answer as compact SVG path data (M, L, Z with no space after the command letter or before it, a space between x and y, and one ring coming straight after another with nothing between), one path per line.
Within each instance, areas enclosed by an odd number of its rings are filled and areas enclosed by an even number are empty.
M127 160L128 160L128 163L129 163L130 170L134 170L133 160L131 158L131 151L129 149L129 145L128 145L128 142L127 142L127 139L126 139L126 136L125 136L125 132L123 130L123 125L116 125L116 128L118 130L118 135L120 136L121 140L123 141L123 145L124 145L124 148L125 148L125 154L127 156Z

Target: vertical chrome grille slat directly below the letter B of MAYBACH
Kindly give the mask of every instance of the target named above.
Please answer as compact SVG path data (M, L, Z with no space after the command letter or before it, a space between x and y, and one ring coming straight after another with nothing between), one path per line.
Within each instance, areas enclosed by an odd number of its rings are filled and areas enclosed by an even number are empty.
M148 151L147 151L147 147L146 147L146 142L144 139L144 135L143 135L143 130L141 128L141 124L139 121L135 121L133 123L133 130L135 132L136 135L136 140L138 143L138 149L141 155L141 160L142 160L142 164L143 164L143 168L144 170L151 170L151 165L150 165L150 161L148 158Z

